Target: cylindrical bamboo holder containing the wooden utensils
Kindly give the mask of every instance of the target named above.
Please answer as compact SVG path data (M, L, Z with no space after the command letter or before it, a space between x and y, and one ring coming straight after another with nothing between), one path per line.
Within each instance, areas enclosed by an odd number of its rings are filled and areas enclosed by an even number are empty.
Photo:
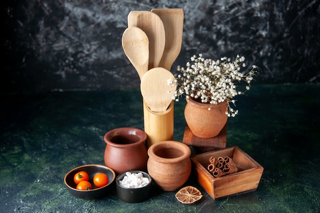
M143 102L144 131L147 147L164 140L173 140L173 101L164 112L153 112Z

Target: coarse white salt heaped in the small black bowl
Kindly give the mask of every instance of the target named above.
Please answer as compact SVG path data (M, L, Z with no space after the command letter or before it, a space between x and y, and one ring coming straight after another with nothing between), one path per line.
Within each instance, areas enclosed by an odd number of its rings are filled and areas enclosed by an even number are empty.
M126 172L126 175L119 181L120 185L126 188L141 188L148 185L149 179L144 177L141 172Z

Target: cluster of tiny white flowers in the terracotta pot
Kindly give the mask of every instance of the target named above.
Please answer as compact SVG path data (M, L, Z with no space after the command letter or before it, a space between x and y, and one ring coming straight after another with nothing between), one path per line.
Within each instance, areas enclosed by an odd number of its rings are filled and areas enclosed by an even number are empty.
M182 74L176 74L174 80L168 80L168 85L177 85L172 99L178 101L179 97L185 94L186 98L191 97L208 104L218 104L226 100L228 110L225 113L234 117L238 110L234 110L229 103L235 104L232 98L245 92L238 91L236 83L245 81L245 88L249 90L250 82L259 69L253 65L247 74L241 73L241 67L245 67L244 60L244 57L239 55L234 60L223 57L217 61L204 59L202 54L198 57L194 55L191 57L193 64L187 62L186 68L178 66L177 70ZM208 109L210 110L210 107Z

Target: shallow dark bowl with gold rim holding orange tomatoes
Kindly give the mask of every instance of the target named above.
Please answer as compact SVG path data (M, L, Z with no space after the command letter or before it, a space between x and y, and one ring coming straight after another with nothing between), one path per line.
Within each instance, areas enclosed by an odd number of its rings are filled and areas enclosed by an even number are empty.
M88 191L82 191L82 190L76 190L77 184L74 182L73 178L77 172L84 171L87 172L89 175L89 182L92 184L92 190ZM108 176L108 184L103 187L96 187L93 183L93 178L96 174L103 173ZM108 193L108 186L115 180L116 174L115 171L113 171L111 168L106 167L105 165L96 165L96 164L90 164L90 165L82 165L81 167L77 167L70 172L68 172L64 176L64 183L67 187L67 190L75 197L81 198L81 199L96 199L105 196Z

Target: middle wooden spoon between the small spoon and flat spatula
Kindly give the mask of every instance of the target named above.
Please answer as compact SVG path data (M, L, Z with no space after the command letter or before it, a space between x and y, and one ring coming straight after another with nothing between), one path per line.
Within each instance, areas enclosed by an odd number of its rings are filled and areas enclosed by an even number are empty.
M162 20L150 11L131 11L128 27L138 27L149 39L149 69L158 67L166 43L165 27Z

